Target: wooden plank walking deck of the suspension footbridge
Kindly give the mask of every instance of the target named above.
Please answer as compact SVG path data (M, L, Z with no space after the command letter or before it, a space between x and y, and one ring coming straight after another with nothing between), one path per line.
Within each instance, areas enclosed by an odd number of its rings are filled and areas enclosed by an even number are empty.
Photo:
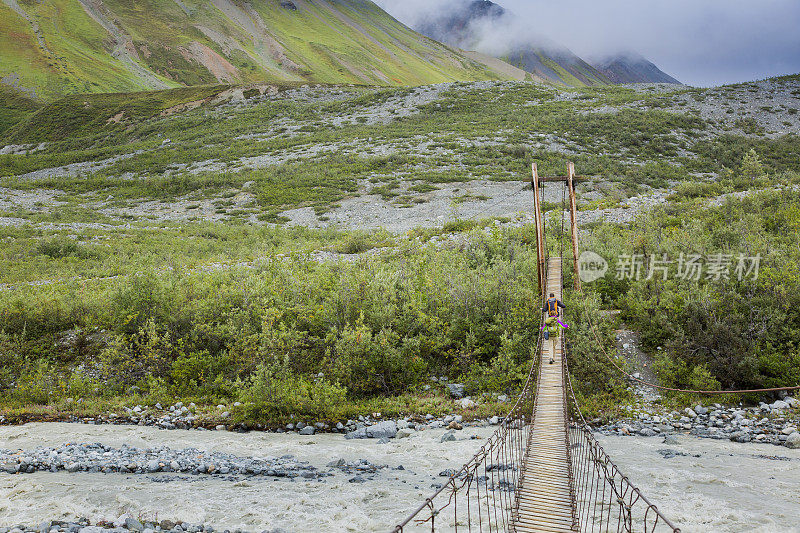
M551 292L561 299L560 257L551 257L548 261L547 294ZM576 531L561 343L556 343L555 361L550 364L550 342L543 341L539 357L533 428L522 467L519 510L514 520L514 530L520 533Z

